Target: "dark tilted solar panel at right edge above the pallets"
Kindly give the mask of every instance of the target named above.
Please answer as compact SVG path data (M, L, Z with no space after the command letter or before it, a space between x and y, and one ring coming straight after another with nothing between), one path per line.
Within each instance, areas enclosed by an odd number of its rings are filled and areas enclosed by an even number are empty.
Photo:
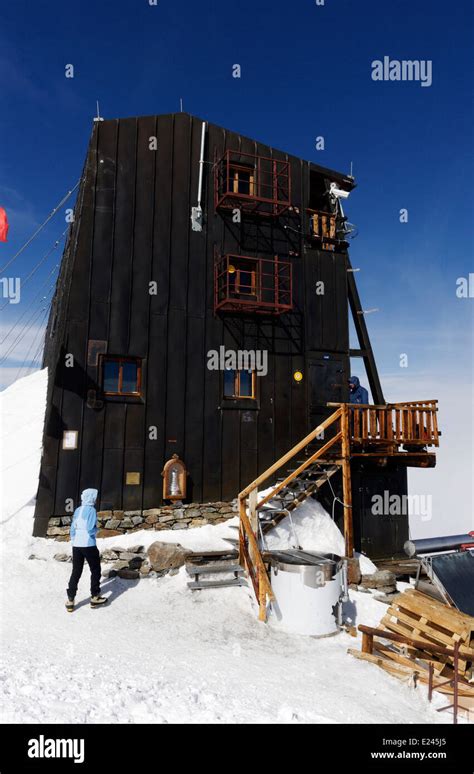
M431 567L458 610L474 616L474 554L461 551L433 556Z

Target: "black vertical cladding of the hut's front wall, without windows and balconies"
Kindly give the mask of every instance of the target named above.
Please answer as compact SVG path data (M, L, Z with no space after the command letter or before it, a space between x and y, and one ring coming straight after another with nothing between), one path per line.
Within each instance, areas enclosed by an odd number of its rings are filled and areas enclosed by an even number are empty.
M53 313L55 336L45 362L51 386L36 509L36 533L46 520L78 503L95 486L100 508L160 504L164 462L179 454L189 472L189 499L232 499L309 427L308 385L293 372L328 355L348 368L347 258L310 249L298 235L314 165L208 125L204 166L204 229L191 229L196 204L202 121L185 113L103 121L94 125L76 206L74 239L63 259ZM158 149L150 150L150 137ZM285 221L233 224L214 209L213 162L227 149L288 159L292 204ZM321 171L324 175L324 171ZM332 179L338 179L336 173ZM293 230L285 230L284 223ZM296 230L295 230L296 226ZM294 310L282 317L215 315L213 265L221 254L279 254L293 265ZM289 257L290 251L299 254ZM318 296L316 282L326 292ZM150 295L149 283L157 283ZM143 397L100 398L90 340L111 355L142 358ZM206 354L268 350L268 375L258 378L258 407L223 408L222 377ZM74 356L65 367L64 356ZM323 396L324 397L324 396ZM327 399L331 399L328 394ZM150 428L156 428L156 439ZM75 451L61 448L64 429L79 431ZM125 484L127 471L140 485Z

